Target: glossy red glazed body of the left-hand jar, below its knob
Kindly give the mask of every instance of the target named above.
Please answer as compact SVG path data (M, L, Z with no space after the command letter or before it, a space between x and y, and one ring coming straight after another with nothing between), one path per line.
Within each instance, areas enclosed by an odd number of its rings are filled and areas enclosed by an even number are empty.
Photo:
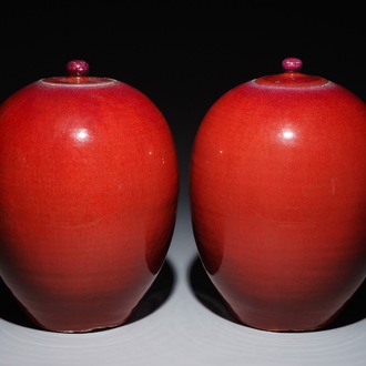
M164 262L177 194L166 121L125 83L71 72L0 109L0 275L43 328L123 324Z

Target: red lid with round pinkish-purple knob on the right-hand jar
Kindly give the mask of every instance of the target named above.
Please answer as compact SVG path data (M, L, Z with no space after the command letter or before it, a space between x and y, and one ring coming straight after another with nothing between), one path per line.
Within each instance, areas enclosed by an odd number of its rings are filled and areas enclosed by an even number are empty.
M302 73L303 62L296 58L283 60L282 68L284 70L283 73L254 79L253 82L260 85L279 88L323 87L331 83L329 80L324 78Z

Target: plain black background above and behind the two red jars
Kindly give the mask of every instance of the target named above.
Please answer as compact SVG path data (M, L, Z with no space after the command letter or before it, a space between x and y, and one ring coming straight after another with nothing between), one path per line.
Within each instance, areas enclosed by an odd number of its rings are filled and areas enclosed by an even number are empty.
M257 2L262 3L262 2ZM360 6L247 1L27 2L1 12L0 102L18 89L65 73L72 59L90 74L138 88L173 132L185 190L194 135L207 109L242 82L282 72L287 57L365 100Z

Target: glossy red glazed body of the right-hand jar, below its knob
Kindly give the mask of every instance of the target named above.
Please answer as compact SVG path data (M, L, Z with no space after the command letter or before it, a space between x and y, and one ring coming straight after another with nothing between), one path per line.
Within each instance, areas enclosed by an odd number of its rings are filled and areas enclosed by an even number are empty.
M203 265L240 322L312 331L366 276L366 114L350 91L289 67L207 111L190 170Z

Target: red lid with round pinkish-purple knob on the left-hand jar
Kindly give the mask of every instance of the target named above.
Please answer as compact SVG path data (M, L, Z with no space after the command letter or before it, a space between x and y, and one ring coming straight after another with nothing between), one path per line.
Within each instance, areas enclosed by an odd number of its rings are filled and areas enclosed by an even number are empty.
M67 75L41 79L40 82L49 85L70 87L103 87L118 81L110 78L89 77L89 63L83 60L72 60L67 63Z

